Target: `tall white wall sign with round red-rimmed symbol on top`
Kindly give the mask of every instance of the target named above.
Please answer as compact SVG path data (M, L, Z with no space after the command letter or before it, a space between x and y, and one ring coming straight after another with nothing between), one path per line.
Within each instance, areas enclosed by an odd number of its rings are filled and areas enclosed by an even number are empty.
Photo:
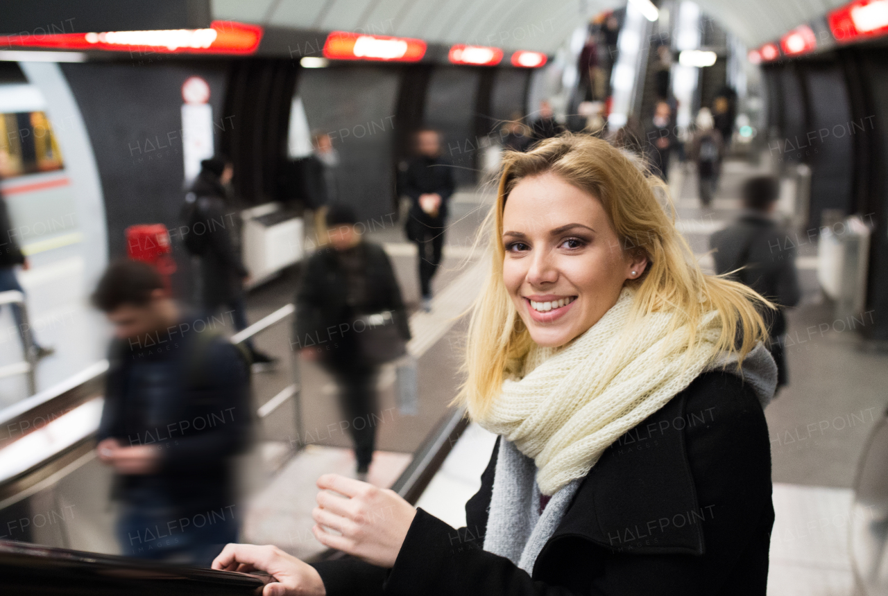
M192 76L182 85L182 159L185 184L191 184L201 173L201 161L215 153L213 146L213 109L210 85L199 76Z

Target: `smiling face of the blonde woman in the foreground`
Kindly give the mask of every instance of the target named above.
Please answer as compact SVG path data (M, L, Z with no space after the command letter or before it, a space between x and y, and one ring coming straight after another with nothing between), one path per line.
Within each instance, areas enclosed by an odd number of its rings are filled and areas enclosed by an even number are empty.
M503 211L503 281L539 345L595 325L638 278L645 256L622 250L601 202L551 173L521 180Z

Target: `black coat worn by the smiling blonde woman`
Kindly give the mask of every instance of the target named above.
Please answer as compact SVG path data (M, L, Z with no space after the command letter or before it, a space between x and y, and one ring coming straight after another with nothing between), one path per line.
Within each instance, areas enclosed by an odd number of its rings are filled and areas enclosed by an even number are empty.
M702 374L604 452L532 576L481 550L495 464L496 449L467 527L419 509L391 570L316 564L329 596L765 594L770 443L756 396L732 374Z

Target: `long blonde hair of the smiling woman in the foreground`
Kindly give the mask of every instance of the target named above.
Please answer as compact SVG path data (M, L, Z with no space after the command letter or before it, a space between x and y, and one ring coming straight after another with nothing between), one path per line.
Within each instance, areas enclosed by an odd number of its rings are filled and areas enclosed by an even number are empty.
M735 352L742 362L757 341L766 339L757 305L773 305L748 286L701 271L676 228L665 184L647 174L637 158L600 138L565 134L527 153L505 153L502 171L496 205L484 226L492 255L490 275L472 307L466 379L456 403L469 406L471 412L486 412L499 395L505 375L520 369L533 345L503 283L503 208L520 180L547 172L599 199L622 250L643 251L647 256L643 274L625 282L636 290L636 296L622 341L631 341L633 325L643 325L646 314L666 311L674 314L673 328L688 325L691 329L690 349L697 341L694 330L710 310L721 315L717 352Z

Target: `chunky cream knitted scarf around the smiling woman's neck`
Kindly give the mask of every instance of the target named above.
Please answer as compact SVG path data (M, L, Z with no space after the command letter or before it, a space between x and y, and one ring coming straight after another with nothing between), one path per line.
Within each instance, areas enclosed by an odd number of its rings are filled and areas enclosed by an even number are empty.
M503 435L535 461L536 483L544 495L583 478L623 433L705 369L729 362L716 353L721 333L717 311L703 316L693 349L687 349L686 325L670 333L672 315L654 312L638 325L642 331L637 337L615 350L634 296L623 288L604 317L566 347L535 346L525 358L521 378L503 382L503 393L488 412L482 416L470 408L472 420ZM759 346L755 351L765 350ZM767 364L773 367L773 361ZM612 374L606 377L608 371ZM763 402L773 395L772 380L754 388Z

